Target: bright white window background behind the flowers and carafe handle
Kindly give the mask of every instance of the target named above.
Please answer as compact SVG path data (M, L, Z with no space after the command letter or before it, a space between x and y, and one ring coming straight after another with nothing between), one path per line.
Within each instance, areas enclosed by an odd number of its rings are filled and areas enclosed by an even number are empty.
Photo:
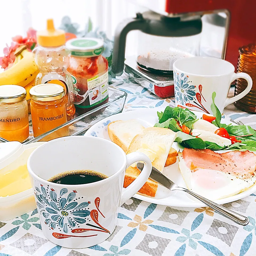
M53 18L54 25L58 28L61 19L69 16L71 22L80 25L80 30L85 28L89 19L93 29L105 31L107 37L113 39L114 31L119 22L126 18L135 17L136 12L145 8L139 7L133 0L0 0L1 10L1 37L0 56L6 43L10 46L11 37L15 35L26 36L29 27L35 30L46 28L46 19ZM126 53L135 54L137 37L136 31L127 37Z

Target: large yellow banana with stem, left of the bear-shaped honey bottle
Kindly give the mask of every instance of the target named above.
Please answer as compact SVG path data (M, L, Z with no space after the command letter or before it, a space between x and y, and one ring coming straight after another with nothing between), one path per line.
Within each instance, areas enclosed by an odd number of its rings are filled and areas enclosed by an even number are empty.
M19 47L15 52L14 65L0 73L0 85L20 85L25 87L34 81L39 73L32 53Z

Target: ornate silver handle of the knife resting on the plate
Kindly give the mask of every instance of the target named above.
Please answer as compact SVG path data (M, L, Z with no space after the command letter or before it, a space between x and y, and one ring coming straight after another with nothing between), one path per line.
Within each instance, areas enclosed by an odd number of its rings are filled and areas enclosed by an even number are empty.
M211 207L213 210L217 211L219 214L223 215L226 218L231 219L231 221L234 221L235 223L237 223L239 225L246 226L249 223L249 218L247 218L239 213L236 213L234 211L231 211L222 205L218 205L217 203L214 203L213 201L210 201L209 199L206 199L206 198L202 197L201 195L198 195L188 189L177 186L173 190L180 190L180 191L187 192L190 195L193 195L193 197L195 197L198 200L200 200L201 202L205 203L206 205Z

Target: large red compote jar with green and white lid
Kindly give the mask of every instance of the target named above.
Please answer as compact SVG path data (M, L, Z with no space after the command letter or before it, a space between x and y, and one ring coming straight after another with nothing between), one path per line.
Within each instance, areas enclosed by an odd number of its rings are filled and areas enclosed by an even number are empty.
M75 86L75 108L79 114L83 114L109 99L108 62L101 55L103 40L75 38L67 41L66 47L71 50L67 70Z

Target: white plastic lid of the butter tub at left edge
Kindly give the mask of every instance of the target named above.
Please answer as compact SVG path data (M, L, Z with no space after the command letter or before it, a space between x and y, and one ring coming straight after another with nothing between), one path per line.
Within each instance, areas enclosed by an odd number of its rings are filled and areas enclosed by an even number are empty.
M18 141L0 143L0 170L15 161L24 152Z

